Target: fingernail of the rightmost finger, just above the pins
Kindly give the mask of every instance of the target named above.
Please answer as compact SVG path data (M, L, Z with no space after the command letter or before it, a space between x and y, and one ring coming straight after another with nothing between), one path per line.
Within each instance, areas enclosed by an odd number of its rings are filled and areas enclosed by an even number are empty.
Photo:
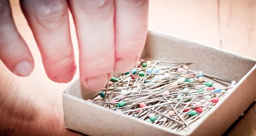
M116 59L115 72L125 73L134 67L136 56Z

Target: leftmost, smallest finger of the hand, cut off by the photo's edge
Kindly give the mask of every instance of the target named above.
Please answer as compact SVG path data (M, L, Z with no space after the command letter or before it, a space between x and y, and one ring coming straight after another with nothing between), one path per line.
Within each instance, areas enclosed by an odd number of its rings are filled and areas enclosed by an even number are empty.
M0 0L0 58L21 77L29 76L34 69L32 54L15 27L8 0Z

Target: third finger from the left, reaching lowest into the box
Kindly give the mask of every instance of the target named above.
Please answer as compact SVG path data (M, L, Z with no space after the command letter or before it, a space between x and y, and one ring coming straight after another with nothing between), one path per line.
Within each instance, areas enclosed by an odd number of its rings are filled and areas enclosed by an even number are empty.
M99 91L113 72L113 0L69 0L69 7L79 42L81 83Z

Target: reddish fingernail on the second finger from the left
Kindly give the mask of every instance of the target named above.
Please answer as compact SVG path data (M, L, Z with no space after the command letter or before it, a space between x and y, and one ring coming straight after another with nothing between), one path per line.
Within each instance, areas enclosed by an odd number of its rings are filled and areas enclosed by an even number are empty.
M76 65L73 68L70 68L67 72L54 76L53 81L59 83L68 83L73 79L75 74Z

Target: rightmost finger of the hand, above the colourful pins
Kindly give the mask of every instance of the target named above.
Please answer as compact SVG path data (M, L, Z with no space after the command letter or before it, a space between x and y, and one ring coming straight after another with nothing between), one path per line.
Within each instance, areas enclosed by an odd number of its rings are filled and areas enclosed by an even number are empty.
M148 29L148 0L116 0L114 71L125 73L137 63Z

